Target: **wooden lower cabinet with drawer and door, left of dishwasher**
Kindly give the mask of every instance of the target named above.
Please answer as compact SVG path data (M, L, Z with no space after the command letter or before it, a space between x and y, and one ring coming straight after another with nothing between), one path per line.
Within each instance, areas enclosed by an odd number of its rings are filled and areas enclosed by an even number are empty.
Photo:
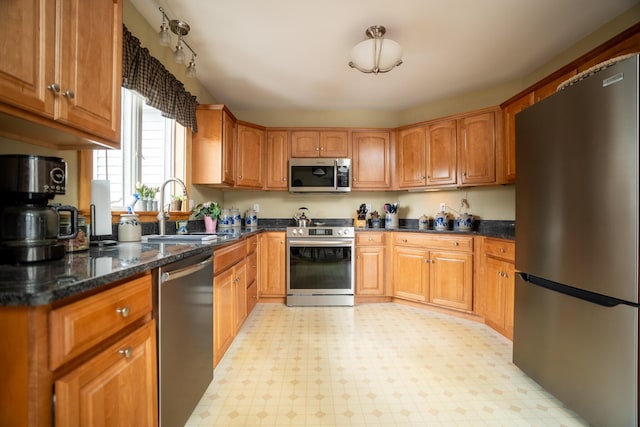
M152 275L71 303L0 307L1 426L157 426Z

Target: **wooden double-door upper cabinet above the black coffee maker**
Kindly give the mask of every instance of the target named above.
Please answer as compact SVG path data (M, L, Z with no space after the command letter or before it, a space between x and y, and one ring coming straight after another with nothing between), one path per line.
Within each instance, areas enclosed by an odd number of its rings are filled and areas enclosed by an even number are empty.
M10 1L3 12L0 112L17 119L0 129L58 148L119 148L122 1Z

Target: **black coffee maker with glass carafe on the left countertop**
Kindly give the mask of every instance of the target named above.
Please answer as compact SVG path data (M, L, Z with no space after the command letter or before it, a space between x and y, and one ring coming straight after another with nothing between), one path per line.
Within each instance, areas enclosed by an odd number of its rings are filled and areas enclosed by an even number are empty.
M67 164L59 157L0 155L0 264L60 259L66 239L78 232L73 206L49 204L65 194ZM60 230L60 212L71 213L71 227Z

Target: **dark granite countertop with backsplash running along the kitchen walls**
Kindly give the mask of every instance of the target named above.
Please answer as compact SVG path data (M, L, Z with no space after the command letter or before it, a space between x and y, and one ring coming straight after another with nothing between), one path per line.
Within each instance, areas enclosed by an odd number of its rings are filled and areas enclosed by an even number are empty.
M118 243L116 246L91 248L66 254L56 261L0 266L0 306L38 306L50 304L188 256L215 250L261 231L285 231L293 225L288 220L260 220L256 229L219 230L219 238L206 244L191 243ZM350 220L322 220L326 225L351 225ZM346 222L345 222L346 221ZM200 221L201 223L202 221ZM198 232L201 224L190 231ZM204 227L204 226L202 226ZM400 220L400 227L358 228L357 231L411 231L433 234L467 234L514 239L513 221L477 221L474 230L436 231L418 229L417 220Z

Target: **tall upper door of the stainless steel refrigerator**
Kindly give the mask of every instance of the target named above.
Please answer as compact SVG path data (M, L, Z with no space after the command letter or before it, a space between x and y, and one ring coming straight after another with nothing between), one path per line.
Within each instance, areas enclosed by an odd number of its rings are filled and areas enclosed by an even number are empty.
M516 116L516 268L638 302L638 57Z

